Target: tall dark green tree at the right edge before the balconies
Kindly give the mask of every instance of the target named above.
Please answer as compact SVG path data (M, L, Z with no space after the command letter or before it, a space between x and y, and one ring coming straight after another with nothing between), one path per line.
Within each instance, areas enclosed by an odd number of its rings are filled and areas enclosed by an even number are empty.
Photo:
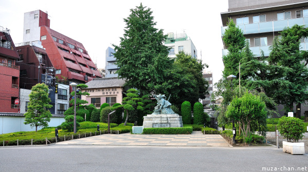
M308 98L308 69L305 66L307 63L303 63L307 60L307 52L300 50L300 39L308 37L308 28L294 25L292 28L283 29L280 33L280 51L274 53L284 53L278 54L285 57L281 58L281 65L293 70L287 71L283 78L290 84L287 91L281 94L279 103L285 105L285 110L293 111L294 103L297 106L296 109L300 109L301 103ZM300 118L300 110L296 112L296 117Z

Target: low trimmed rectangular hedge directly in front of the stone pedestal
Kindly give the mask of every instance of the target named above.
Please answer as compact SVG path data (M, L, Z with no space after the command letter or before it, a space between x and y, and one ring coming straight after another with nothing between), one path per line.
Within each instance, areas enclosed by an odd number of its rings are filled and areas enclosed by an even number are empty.
M144 135L190 135L192 126L178 128L143 128Z

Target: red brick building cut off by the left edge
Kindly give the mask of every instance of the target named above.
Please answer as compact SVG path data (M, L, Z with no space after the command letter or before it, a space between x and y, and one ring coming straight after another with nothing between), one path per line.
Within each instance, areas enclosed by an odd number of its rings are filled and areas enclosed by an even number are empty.
M19 59L10 30L0 26L0 112L18 112L14 100L19 97Z

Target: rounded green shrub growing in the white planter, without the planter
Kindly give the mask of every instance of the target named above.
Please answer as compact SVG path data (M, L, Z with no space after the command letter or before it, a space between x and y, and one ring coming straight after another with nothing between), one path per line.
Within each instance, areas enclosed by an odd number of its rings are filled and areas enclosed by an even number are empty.
M298 142L304 136L306 125L298 118L281 117L278 122L278 130L288 142Z

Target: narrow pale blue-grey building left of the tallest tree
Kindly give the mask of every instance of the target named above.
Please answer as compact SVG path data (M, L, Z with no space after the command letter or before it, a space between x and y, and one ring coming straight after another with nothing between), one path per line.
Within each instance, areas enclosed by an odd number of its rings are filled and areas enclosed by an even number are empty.
M106 75L105 78L114 78L114 77L118 77L118 73L117 70L119 69L119 67L117 65L115 65L115 61L117 61L117 59L114 58L114 49L108 47L106 49L106 67L105 67L105 71L106 71Z

